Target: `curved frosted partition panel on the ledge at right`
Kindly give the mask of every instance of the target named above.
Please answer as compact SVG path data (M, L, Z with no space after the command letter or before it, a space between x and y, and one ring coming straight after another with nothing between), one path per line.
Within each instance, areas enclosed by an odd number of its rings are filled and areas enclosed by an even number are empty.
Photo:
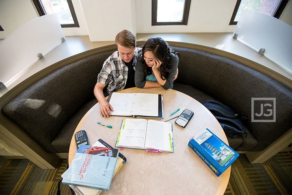
M292 27L275 17L243 10L235 27L237 40L292 74ZM259 54L260 55L260 54Z

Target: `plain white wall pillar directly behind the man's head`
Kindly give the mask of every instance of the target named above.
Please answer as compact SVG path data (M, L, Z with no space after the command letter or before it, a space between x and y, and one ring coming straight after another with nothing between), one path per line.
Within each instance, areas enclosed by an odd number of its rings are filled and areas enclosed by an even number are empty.
M136 33L134 0L80 0L91 41L114 41L127 29Z

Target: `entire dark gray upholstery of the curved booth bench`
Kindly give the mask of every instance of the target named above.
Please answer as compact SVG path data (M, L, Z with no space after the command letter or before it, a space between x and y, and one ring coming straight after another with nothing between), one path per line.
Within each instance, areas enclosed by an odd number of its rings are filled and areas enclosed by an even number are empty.
M238 151L261 151L291 128L292 90L237 61L208 52L172 47L179 52L174 90L199 102L214 99L248 115L247 143L228 138ZM68 153L73 132L97 102L93 89L103 62L114 50L67 64L24 90L2 112L48 153ZM276 122L251 122L251 98L276 98Z

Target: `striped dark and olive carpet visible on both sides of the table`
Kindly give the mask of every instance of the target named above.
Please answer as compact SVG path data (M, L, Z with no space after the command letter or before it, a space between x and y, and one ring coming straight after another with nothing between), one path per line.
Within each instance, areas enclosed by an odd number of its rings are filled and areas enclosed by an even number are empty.
M0 194L55 195L61 174L67 168L62 159L57 169L41 169L28 159L0 156ZM70 195L61 184L61 195ZM244 154L231 165L224 195L292 195L292 154L280 152L261 164L250 164Z

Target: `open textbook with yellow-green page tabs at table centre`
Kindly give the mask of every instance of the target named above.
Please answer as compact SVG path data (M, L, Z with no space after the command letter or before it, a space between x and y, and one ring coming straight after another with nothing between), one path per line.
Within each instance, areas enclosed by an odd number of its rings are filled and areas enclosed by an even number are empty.
M173 152L172 124L146 119L122 121L116 147Z

